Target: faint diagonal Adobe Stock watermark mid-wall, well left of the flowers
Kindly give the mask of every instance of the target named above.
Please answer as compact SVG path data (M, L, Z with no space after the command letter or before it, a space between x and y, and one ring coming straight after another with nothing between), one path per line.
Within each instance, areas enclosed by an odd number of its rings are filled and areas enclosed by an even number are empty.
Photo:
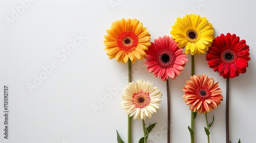
M67 47L63 47L61 50L59 50L56 53L56 57L59 58L61 62L65 61L68 56L70 56L76 48L81 45L84 40L86 39L86 36L83 36L81 33L80 34L75 34L75 38L73 39L73 42L68 44ZM48 78L49 75L51 75L54 71L55 68L59 66L59 61L58 60L52 60L50 62L50 65L47 66L42 66L42 71L39 74L34 75L34 80L33 82L27 82L26 85L32 93L32 90L34 88L37 88L44 80Z

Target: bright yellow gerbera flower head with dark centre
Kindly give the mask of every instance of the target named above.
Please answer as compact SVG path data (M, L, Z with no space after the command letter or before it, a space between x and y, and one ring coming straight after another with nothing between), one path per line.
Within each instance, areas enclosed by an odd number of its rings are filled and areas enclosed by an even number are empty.
M190 14L178 17L170 31L179 48L185 47L185 53L205 53L214 40L214 28L205 17Z

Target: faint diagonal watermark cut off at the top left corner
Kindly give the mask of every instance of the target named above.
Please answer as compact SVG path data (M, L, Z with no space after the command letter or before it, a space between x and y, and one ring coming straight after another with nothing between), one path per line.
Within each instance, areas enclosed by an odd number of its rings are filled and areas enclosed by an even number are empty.
M34 3L36 0L21 0L19 1L20 5L16 9L11 9L11 15L10 17L5 16L4 20L8 27L10 27L10 23L15 22L20 15L22 15L26 9L29 9L31 4Z

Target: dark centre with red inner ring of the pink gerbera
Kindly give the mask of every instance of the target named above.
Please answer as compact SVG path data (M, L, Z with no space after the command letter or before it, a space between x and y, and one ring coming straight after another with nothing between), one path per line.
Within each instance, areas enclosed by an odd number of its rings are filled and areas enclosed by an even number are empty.
M162 68L173 67L175 60L176 55L170 49L164 48L156 53L156 62Z

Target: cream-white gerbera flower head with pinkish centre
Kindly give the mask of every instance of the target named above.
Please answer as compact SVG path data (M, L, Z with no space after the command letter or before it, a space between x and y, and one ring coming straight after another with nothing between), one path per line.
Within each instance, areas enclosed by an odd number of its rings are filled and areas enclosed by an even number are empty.
M161 97L161 91L153 87L153 83L137 80L136 83L130 82L123 89L121 107L126 114L133 116L134 120L145 120L146 116L151 118L156 109L159 109Z

